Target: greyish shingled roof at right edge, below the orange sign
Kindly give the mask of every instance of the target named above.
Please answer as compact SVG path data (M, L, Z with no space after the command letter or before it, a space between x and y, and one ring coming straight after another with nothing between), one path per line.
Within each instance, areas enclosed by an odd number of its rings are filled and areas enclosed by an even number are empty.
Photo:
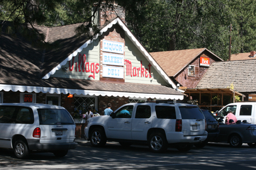
M233 84L239 92L256 91L256 60L215 62L196 88L226 88Z

